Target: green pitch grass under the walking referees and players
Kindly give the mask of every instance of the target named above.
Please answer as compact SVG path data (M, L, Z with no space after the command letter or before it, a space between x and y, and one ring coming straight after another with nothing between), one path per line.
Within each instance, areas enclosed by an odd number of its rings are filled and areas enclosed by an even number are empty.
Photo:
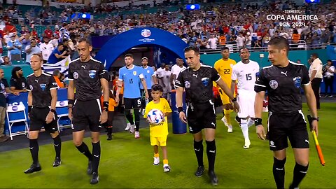
M333 180L336 170L336 104L322 104L321 108L318 139L326 165L320 165L309 133L310 164L300 188L336 188ZM305 104L303 110L307 115ZM235 113L232 113L232 120L234 117ZM263 117L265 125L267 114ZM140 139L134 139L134 135L127 132L113 134L112 141L106 141L106 136L102 135L99 183L95 186L90 185L90 176L86 174L87 158L77 151L71 141L66 141L62 144L60 167L52 167L55 157L52 144L40 146L42 171L29 175L23 173L31 165L28 148L0 153L0 188L275 188L272 151L269 151L268 141L258 139L255 127L252 126L251 148L245 150L244 139L237 123L232 121L234 132L229 134L220 119L221 115L218 115L216 173L219 183L216 187L209 184L207 171L202 177L194 176L197 162L192 135L172 134L169 125L167 149L169 165L172 167L169 173L163 172L162 159L160 165L153 165L149 131L141 129ZM90 139L85 139L85 143L91 148ZM207 169L205 149L204 142L204 165ZM288 148L286 188L292 181L294 165L293 151Z

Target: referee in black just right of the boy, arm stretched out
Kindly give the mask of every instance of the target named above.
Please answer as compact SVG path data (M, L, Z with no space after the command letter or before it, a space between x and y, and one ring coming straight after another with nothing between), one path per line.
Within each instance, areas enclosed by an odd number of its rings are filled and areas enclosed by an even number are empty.
M202 176L203 165L203 137L204 129L205 140L207 143L207 156L209 162L209 176L213 185L218 184L217 176L214 172L216 158L216 110L214 107L214 92L212 83L215 81L232 99L235 111L239 111L239 105L234 98L230 88L221 80L216 69L200 63L200 49L190 46L184 49L184 55L188 68L183 69L175 81L176 85L176 106L179 110L180 119L187 123L189 132L194 137L194 150L198 162L195 172L196 176ZM183 112L183 90L186 90L187 116Z

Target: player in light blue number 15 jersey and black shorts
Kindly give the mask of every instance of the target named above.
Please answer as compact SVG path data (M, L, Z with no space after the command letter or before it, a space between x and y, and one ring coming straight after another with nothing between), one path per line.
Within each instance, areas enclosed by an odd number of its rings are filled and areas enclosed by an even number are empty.
M134 58L132 54L125 55L125 64L121 69L119 69L118 78L118 89L116 93L116 102L119 102L119 92L124 82L124 106L125 106L125 116L127 120L131 123L130 132L134 132L134 137L136 139L140 138L139 126L140 126L140 113L141 108L141 93L140 93L140 83L144 86L145 97L148 99L148 90L146 85L146 80L144 78L143 69L139 66L133 65ZM131 110L134 111L134 120Z

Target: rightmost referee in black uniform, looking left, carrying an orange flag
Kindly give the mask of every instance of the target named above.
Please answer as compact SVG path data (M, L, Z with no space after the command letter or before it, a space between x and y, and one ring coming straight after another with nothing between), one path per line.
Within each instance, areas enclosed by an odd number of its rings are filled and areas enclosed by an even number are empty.
M316 99L311 89L308 70L303 64L288 60L289 43L281 36L268 43L271 66L264 67L255 81L255 126L258 137L265 140L262 127L262 102L267 91L269 97L268 132L269 148L274 152L273 176L277 188L284 188L285 162L288 139L294 151L293 182L297 188L307 174L309 165L309 137L306 121L301 111L301 88L312 114L312 130L318 133Z

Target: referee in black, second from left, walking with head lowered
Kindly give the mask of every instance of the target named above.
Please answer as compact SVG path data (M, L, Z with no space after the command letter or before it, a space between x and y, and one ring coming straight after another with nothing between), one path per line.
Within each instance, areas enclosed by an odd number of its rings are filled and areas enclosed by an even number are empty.
M88 159L87 174L92 174L91 184L98 183L100 160L99 132L107 121L109 111L109 76L102 62L90 56L92 45L86 38L78 41L80 57L69 64L69 118L72 120L73 144ZM76 88L76 94L74 89ZM104 110L100 97L104 92ZM83 142L87 125L91 130L92 153Z

